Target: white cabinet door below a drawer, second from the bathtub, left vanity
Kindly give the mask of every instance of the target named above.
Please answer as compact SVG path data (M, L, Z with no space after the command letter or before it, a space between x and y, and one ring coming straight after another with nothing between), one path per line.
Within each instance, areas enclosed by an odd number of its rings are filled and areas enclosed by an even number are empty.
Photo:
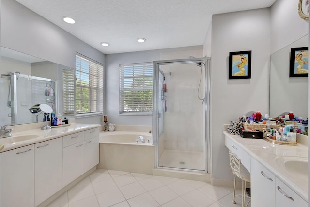
M69 184L84 173L84 141L63 148L63 183Z

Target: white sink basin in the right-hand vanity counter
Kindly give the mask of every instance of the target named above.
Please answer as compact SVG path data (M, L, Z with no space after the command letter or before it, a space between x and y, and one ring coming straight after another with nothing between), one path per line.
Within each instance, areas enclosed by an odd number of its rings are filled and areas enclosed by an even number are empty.
M308 158L298 156L280 156L276 158L276 163L285 170L308 179Z

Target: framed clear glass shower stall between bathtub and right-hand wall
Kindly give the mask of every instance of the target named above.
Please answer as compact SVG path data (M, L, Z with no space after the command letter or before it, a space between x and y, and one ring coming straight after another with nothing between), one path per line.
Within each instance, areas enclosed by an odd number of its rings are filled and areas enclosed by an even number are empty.
M156 165L208 172L209 58L154 61Z

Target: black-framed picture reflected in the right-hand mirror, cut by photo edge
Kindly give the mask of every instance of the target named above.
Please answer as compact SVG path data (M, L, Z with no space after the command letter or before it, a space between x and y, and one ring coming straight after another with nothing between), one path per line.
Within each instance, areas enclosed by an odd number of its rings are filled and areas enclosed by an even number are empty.
M308 77L308 47L291 48L290 77Z

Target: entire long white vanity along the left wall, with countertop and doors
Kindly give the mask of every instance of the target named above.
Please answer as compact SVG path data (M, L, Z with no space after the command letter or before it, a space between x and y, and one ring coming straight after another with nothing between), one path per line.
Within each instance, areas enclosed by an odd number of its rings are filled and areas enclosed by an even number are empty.
M99 163L100 125L33 129L0 139L1 205L45 206Z

